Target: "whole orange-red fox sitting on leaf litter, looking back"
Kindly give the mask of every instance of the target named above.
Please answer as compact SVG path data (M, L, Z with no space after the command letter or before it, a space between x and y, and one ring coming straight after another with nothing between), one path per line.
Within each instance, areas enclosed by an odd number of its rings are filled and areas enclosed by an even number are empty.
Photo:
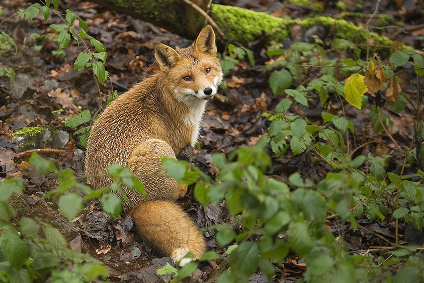
M160 71L120 95L94 122L85 173L87 182L98 189L113 182L109 165L129 167L144 183L148 197L144 202L141 194L124 188L132 202L122 202L124 212L129 212L139 235L175 262L188 252L199 259L206 250L205 239L174 202L186 194L187 185L169 177L161 159L175 159L196 143L206 102L222 80L212 27L205 26L186 48L156 45L155 58Z

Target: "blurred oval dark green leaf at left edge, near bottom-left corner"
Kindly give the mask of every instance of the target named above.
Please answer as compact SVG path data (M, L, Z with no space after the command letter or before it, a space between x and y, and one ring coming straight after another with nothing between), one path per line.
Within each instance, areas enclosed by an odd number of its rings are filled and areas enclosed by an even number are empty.
M29 256L28 246L14 233L2 235L2 254L14 268L20 268Z

